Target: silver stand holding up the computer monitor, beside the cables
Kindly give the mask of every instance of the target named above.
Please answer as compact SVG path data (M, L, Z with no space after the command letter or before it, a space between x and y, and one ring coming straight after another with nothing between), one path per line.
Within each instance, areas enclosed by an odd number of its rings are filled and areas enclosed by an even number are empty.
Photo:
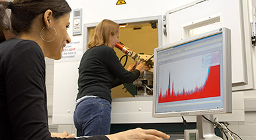
M209 120L213 121L213 115L204 115ZM205 120L202 116L196 116L196 128L198 129L198 140L223 140L214 133L214 126L208 120Z

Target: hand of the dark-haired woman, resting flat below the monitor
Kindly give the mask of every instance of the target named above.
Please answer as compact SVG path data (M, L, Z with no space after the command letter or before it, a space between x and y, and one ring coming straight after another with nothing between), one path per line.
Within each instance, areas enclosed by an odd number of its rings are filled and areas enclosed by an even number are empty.
M163 140L169 139L169 135L161 131L157 131L156 129L130 129L127 131L122 131L119 133L114 133L112 135L106 135L110 140ZM162 139L163 138L163 139Z

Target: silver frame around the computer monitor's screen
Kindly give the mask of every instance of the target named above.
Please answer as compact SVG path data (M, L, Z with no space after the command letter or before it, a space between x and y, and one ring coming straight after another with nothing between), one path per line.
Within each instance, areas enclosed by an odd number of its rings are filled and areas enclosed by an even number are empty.
M224 91L224 107L218 109L210 109L210 110L190 110L190 111L182 111L182 112L163 112L156 113L156 101L157 94L155 93L157 90L153 90L153 112L152 116L154 118L162 118L162 117L174 117L174 116L198 116L198 115L206 115L206 114L225 114L232 113L232 70L231 70L231 31L228 28L219 28L218 30L212 30L210 32L196 35L194 37L190 37L187 39L183 39L181 41L177 41L175 43L171 43L169 45L164 45L162 47L157 47L154 50L154 68L153 68L153 89L156 89L156 80L157 80L157 52L169 49L171 47L179 46L185 43L189 43L191 41L196 41L198 39L202 39L204 37L209 37L211 35L216 35L222 33L222 42L223 42L223 91Z

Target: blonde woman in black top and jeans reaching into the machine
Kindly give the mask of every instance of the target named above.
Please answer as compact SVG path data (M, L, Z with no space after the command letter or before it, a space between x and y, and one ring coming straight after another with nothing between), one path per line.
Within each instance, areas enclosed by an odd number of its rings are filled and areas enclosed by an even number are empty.
M111 88L132 83L148 66L136 62L124 69L114 47L119 43L119 24L101 21L88 43L79 66L79 93L74 123L79 135L107 135L110 131ZM135 70L134 70L135 69Z

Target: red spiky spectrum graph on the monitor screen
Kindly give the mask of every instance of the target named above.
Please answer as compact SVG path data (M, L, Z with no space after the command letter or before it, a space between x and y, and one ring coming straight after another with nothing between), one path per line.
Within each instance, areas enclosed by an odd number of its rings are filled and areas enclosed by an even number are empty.
M201 85L200 87L196 86L194 89L189 91L185 91L183 88L183 91L175 93L175 89L173 87L174 81L172 82L172 88L170 83L171 74L169 74L169 84L167 91L165 91L165 95L162 95L162 89L160 89L160 94L158 96L159 103L218 97L220 96L220 65L211 66L209 68L208 78L206 78L204 85Z

